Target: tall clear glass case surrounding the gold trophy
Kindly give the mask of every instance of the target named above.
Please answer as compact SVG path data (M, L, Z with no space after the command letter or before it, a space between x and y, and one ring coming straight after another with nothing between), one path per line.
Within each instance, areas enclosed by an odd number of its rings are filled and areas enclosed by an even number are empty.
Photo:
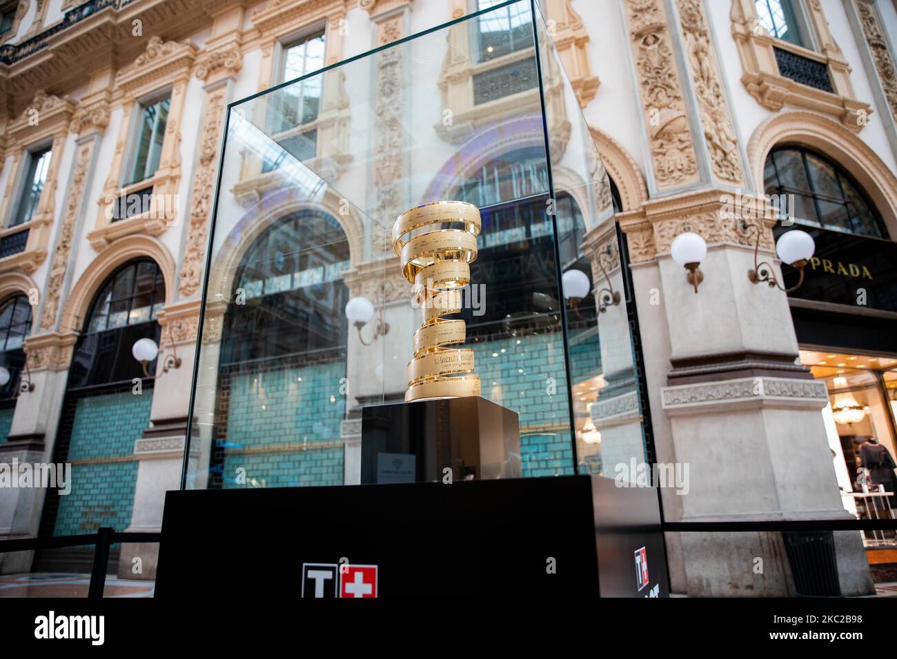
M458 316L521 476L646 460L614 190L541 11L496 4L231 104L188 489L360 481L361 410L404 401L420 325L390 231L439 200L480 208Z

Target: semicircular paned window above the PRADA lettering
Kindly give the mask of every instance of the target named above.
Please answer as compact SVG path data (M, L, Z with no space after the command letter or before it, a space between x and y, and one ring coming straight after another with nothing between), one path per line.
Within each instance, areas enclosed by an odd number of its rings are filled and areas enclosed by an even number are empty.
M857 181L836 162L801 146L781 146L766 159L767 195L793 195L794 221L823 229L887 238L881 216Z

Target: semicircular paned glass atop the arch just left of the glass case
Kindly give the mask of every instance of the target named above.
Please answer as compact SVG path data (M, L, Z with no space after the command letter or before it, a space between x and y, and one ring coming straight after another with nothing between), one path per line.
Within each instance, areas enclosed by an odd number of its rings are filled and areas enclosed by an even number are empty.
M138 261L109 278L94 299L87 332L102 332L156 319L165 304L165 282L159 266Z

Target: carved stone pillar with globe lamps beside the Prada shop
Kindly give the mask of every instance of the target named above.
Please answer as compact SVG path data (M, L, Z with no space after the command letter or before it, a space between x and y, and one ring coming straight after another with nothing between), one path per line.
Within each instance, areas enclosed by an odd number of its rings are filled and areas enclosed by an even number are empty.
M666 519L846 518L824 386L797 364L785 293L747 276L758 232L762 258L774 262L776 215L746 174L704 4L625 6L651 200L617 219L640 323L652 328L641 338L658 462L689 474L678 493L661 489ZM708 244L697 293L669 256L686 231ZM858 533L836 533L836 545L842 593L867 593ZM674 592L794 594L780 533L669 533L667 547Z

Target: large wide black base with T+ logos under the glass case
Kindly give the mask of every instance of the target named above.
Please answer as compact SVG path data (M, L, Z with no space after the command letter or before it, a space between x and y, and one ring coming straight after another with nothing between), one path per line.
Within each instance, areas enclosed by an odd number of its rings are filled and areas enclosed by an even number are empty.
M161 534L155 596L183 601L668 594L658 490L597 476L175 490Z

